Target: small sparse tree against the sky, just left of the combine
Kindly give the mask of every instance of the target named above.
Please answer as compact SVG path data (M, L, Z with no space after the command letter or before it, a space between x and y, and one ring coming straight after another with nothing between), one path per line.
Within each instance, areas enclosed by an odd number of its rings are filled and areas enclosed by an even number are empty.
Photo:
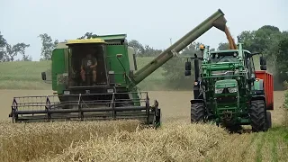
M43 57L40 60L49 60L52 57L53 49L58 44L58 40L52 40L47 33L40 34L39 37L42 41L41 56Z

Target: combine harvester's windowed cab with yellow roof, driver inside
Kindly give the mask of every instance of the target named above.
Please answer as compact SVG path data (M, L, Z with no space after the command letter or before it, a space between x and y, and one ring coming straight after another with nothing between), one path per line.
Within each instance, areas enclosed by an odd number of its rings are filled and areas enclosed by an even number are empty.
M105 41L68 40L68 86L107 85Z

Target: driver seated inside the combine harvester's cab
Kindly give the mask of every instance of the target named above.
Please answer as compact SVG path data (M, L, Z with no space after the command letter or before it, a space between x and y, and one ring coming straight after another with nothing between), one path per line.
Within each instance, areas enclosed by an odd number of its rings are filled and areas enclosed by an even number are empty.
M91 53L87 53L86 57L82 59L81 65L81 77L82 81L85 83L86 76L93 76L93 85L96 85L96 67L97 67L97 59L92 56ZM90 77L88 84L90 83Z

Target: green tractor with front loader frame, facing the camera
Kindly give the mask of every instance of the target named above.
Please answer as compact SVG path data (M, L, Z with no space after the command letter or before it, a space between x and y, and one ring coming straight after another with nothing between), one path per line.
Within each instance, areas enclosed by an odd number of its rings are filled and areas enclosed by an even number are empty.
M256 71L253 56L258 53L242 49L240 43L238 49L209 51L209 46L202 46L201 50L202 57L195 55L185 63L185 76L190 76L190 60L194 60L191 121L213 121L228 130L241 125L251 125L253 131L268 130L272 123L267 110L273 108L266 94L273 93L273 88L265 87L273 87L273 79L269 73L270 79L257 77L266 70L266 58L260 57L261 70Z

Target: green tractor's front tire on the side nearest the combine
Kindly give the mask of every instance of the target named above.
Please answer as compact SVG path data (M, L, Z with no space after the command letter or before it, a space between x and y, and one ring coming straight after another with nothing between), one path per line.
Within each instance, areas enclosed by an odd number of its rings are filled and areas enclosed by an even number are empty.
M191 104L191 122L205 121L205 111L203 103Z

